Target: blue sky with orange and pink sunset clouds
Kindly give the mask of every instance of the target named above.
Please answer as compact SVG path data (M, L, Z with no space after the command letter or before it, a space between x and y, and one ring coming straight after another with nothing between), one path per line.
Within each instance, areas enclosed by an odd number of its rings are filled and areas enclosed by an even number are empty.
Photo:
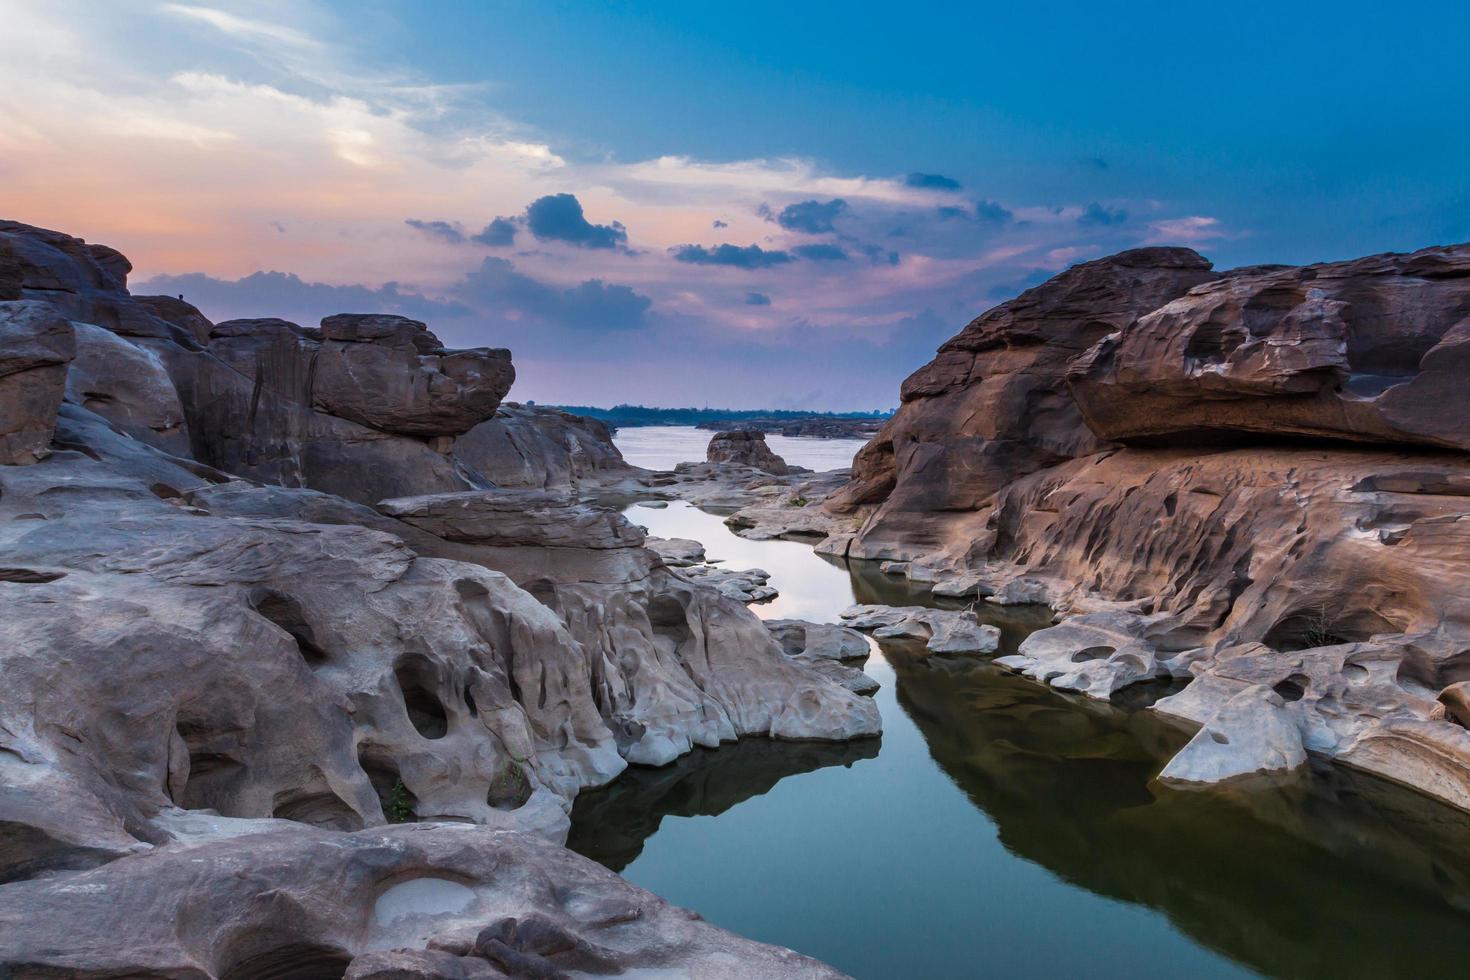
M522 401L885 408L1122 248L1470 239L1467 3L0 7L0 217L215 320L509 347Z

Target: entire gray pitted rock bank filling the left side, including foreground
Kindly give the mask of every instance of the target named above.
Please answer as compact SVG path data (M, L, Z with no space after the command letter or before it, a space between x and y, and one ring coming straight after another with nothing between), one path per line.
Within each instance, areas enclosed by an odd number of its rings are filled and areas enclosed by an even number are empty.
M497 416L510 356L415 320L212 325L126 272L0 223L0 973L829 976L523 837L629 763L879 729L576 502L629 472L606 429ZM454 905L401 926L413 887Z

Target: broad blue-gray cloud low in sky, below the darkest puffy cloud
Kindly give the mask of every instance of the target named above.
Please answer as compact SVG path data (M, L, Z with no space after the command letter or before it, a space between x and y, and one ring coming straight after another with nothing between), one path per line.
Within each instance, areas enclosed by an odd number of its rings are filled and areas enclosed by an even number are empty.
M485 259L456 284L451 295L501 317L531 317L576 331L632 331L644 326L653 300L632 287L588 279L572 288L517 272L509 259Z

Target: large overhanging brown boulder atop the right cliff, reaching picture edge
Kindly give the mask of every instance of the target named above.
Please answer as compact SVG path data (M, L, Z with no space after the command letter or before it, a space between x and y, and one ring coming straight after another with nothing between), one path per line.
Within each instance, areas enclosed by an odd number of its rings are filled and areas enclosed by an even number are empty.
M1470 245L1242 270L1123 325L1069 383L1119 442L1470 448Z

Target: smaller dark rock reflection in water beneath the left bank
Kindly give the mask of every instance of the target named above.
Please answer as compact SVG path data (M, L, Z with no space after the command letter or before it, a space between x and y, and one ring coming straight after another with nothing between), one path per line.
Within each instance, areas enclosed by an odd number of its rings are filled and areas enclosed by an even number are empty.
M786 776L876 758L881 741L776 742L742 739L697 748L662 768L637 765L610 786L582 793L566 846L622 871L642 854L664 817L717 817L764 795Z

